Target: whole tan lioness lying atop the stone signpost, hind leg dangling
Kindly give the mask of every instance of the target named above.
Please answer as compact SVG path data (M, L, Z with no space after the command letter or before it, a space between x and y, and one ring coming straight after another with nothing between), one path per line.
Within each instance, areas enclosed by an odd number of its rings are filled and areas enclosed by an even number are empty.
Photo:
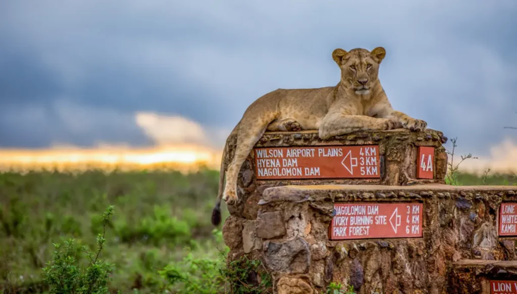
M237 134L235 156L227 169L226 147L221 160L219 192L212 211L212 224L221 222L221 197L235 204L237 175L244 160L266 130L318 130L322 139L358 130L408 128L424 130L427 123L394 110L378 79L379 64L386 56L383 47L372 52L355 48L349 52L338 48L332 58L341 69L341 80L335 87L318 89L277 89L255 100L244 112L232 134Z

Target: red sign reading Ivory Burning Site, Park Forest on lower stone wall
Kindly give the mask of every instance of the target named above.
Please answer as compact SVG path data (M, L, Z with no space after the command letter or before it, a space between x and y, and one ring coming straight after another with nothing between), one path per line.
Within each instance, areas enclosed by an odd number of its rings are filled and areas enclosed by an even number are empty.
M422 237L422 203L334 204L330 239Z

